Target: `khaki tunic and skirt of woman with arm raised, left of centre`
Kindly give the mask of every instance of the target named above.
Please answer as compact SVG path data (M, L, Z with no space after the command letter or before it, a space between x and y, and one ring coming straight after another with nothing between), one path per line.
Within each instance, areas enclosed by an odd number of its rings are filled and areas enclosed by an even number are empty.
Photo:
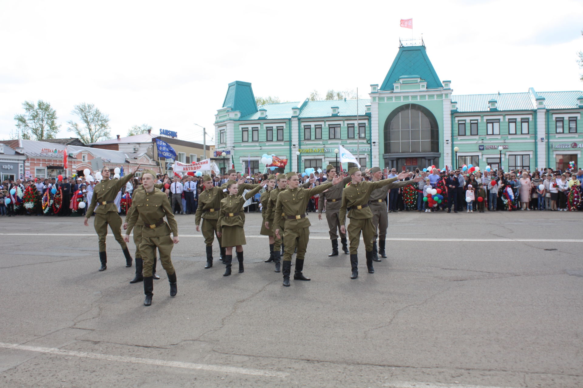
M219 220L217 220L217 232L222 233L221 247L236 247L245 245L245 201L259 193L261 186L257 185L253 190L244 195L228 195L220 201Z

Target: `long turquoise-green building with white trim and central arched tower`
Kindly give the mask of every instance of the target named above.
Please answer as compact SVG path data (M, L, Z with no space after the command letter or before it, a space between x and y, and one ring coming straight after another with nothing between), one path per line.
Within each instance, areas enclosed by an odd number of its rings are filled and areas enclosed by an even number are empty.
M339 145L363 169L578 166L581 91L452 95L451 81L439 79L422 41L401 44L382 84L370 88L367 99L257 106L251 83L230 83L215 116L220 168L232 163L263 172L261 156L268 154L287 159L279 172L324 170L336 165Z

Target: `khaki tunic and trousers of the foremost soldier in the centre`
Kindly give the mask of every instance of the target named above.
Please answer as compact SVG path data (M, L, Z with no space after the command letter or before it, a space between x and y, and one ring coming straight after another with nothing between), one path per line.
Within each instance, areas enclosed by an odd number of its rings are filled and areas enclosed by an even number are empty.
M291 256L296 250L296 259L305 258L305 250L310 240L310 220L305 216L305 207L312 195L322 193L322 191L332 187L332 182L321 184L312 188L286 188L278 195L278 201L275 205L275 217L273 218L273 231L283 230L283 244L285 252L283 261L291 261ZM288 218L288 217L291 217ZM283 226L284 229L281 229ZM281 233L280 233L281 236ZM273 247L275 251L275 246Z

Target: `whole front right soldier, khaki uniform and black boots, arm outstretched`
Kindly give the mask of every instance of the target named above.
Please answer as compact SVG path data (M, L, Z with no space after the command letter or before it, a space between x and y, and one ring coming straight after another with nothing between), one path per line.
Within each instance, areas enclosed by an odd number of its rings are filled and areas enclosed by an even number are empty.
M340 229L346 233L346 212L350 223L348 225L348 237L350 239L350 265L352 266L352 276L350 279L356 279L359 276L359 257L357 250L360 243L360 232L363 234L364 247L366 249L366 265L368 273L374 273L373 268L373 213L368 207L368 200L373 190L391 184L395 180L404 179L409 176L408 173L401 173L396 178L384 179L376 182L367 182L363 180L362 173L357 167L348 170L350 175L349 186L342 193L342 207L340 207ZM368 170L365 171L368 173ZM417 178L416 178L417 179ZM419 180L421 180L419 178ZM409 183L419 180L410 180Z

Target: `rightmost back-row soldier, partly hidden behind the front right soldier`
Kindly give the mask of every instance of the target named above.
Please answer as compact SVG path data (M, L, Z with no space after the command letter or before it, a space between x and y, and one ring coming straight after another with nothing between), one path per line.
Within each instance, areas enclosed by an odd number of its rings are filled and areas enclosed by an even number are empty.
M382 170L378 167L373 167L370 169L370 175L373 177L373 182L378 182L382 178ZM385 199L387 198L387 193L391 188L401 188L410 184L410 181L401 180L398 182L393 182L387 184L387 186L379 187L373 190L370 194L368 200L368 207L370 211L373 212L373 261L381 261L378 258L378 253L380 252L382 257L385 256L385 238L387 237L387 227L388 223L388 213L387 204ZM378 251L377 251L377 237L378 237Z

